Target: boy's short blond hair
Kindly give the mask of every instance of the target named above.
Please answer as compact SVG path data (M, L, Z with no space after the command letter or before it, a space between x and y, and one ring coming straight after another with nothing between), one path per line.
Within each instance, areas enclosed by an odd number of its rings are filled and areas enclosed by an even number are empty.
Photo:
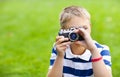
M66 23L74 16L86 18L90 21L90 14L86 9L79 6L69 6L64 8L63 12L60 14L61 27L64 27L64 25L66 25Z

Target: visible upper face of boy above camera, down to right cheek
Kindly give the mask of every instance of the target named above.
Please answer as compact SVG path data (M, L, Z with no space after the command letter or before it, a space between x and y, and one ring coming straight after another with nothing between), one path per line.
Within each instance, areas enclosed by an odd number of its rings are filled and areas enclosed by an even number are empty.
M69 29L72 27L81 27L84 28L88 33L91 32L91 26L88 19L80 18L80 17L73 17L68 23L66 23L65 28Z

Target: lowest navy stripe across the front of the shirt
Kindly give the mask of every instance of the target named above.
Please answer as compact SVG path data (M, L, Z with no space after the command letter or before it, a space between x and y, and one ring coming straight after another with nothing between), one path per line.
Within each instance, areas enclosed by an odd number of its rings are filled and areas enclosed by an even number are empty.
M91 76L93 74L93 70L92 69L78 70L78 69L64 66L63 73L72 74L72 75L79 76L79 77L81 76L85 77L85 76Z

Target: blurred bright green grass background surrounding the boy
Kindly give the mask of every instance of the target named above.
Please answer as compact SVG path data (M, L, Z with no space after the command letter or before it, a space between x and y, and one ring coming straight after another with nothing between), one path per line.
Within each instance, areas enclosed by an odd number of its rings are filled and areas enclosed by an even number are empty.
M78 5L91 13L92 37L110 47L120 75L119 0L0 0L0 77L45 77L59 13Z

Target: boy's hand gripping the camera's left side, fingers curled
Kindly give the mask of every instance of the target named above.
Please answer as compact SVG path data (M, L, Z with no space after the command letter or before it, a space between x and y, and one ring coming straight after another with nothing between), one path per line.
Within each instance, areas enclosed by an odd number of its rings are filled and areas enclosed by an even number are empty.
M64 38L64 36L57 36L56 37L55 46L56 46L57 54L59 57L64 57L64 53L65 53L65 50L67 48L67 45L71 44L71 42L68 40L69 39ZM67 42L64 42L64 41L67 41Z

